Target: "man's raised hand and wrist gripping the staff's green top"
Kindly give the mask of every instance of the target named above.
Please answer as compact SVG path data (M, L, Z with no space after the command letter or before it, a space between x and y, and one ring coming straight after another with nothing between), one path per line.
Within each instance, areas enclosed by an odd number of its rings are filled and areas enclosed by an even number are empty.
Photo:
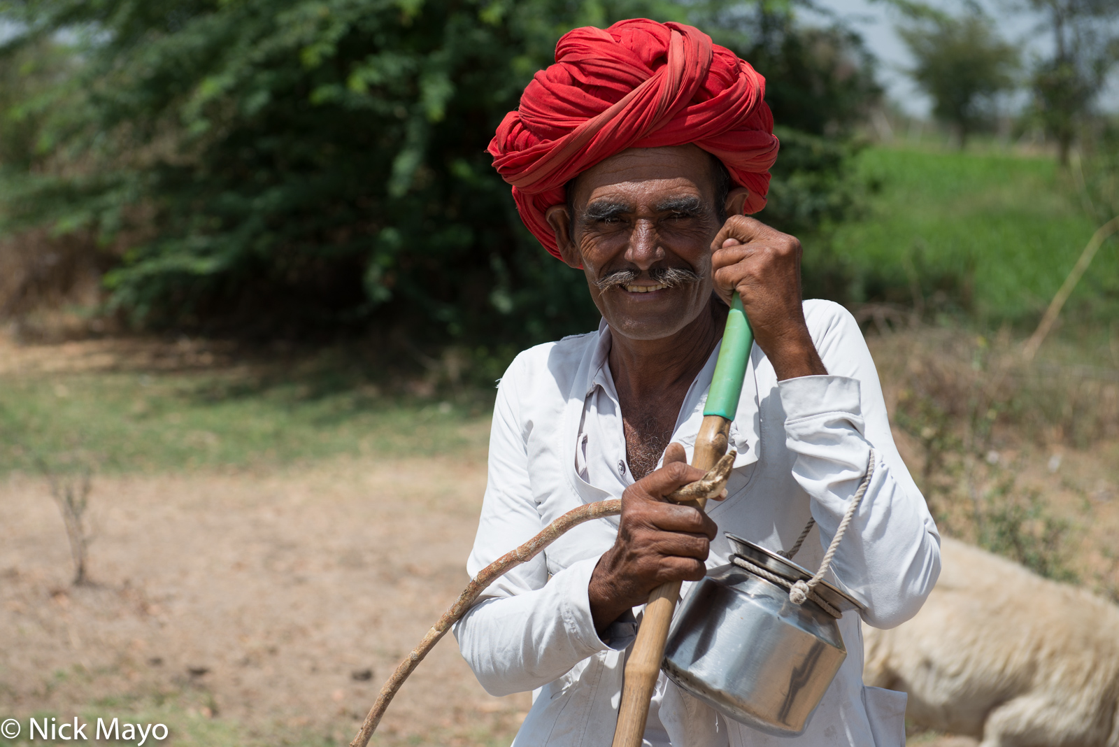
M800 242L760 220L731 216L712 242L715 292L727 304L734 291L758 346L779 380L826 376L801 306Z

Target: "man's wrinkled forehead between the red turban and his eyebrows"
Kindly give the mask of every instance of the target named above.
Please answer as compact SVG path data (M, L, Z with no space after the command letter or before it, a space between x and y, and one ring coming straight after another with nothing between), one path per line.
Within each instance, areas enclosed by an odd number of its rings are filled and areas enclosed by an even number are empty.
M581 208L600 199L711 200L714 157L696 145L631 148L596 163L567 185L567 202Z

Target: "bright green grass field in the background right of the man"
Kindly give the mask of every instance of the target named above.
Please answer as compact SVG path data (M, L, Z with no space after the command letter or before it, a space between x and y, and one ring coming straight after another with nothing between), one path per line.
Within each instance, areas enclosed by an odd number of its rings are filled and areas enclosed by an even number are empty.
M856 163L874 191L835 235L855 300L916 300L980 324L1028 327L1097 228L1052 158L873 146ZM1119 311L1115 242L1068 310L1094 320Z

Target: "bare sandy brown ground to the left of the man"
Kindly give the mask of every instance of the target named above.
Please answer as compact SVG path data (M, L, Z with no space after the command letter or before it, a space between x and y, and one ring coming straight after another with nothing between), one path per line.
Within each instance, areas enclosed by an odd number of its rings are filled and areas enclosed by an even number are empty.
M100 477L96 585L75 588L46 486L13 475L0 483L0 713L186 693L261 737L286 726L348 741L468 580L483 486L481 465L420 461ZM486 744L528 705L486 694L448 639L393 705L383 744Z

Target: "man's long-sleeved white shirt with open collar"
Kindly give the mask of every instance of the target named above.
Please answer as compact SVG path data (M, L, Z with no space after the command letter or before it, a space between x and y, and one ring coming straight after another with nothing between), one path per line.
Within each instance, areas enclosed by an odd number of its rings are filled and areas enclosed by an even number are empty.
M781 550L815 517L817 528L797 561L817 568L873 447L874 477L839 545L831 576L865 605L867 624L892 627L916 614L932 590L940 573L939 536L894 445L858 325L835 303L806 301L803 308L829 375L779 382L754 346L731 426L739 455L728 497L708 504L720 535L707 566L727 562L724 531ZM563 513L620 498L632 482L608 365L610 344L610 329L602 323L596 332L526 350L506 371L493 408L489 482L467 565L471 577ZM717 354L718 348L696 376L673 433L689 460ZM488 692L535 691L515 747L611 744L636 624L626 616L600 639L587 585L617 532L617 517L573 529L495 581L454 627L462 655ZM847 613L839 628L847 659L800 737L771 737L717 716L661 674L646 744L902 745L905 696L864 688L858 617Z

